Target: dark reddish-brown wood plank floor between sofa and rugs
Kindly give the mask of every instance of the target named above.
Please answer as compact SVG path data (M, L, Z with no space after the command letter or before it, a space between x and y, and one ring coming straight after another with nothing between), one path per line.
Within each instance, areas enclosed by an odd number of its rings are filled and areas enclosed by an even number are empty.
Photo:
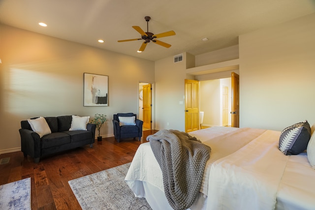
M0 165L0 185L31 177L32 210L80 210L68 181L131 162L139 145L155 132L143 131L141 142L124 139L118 143L114 137L103 138L95 141L93 148L87 145L39 163L21 151L0 154L0 159L10 157L9 163Z

